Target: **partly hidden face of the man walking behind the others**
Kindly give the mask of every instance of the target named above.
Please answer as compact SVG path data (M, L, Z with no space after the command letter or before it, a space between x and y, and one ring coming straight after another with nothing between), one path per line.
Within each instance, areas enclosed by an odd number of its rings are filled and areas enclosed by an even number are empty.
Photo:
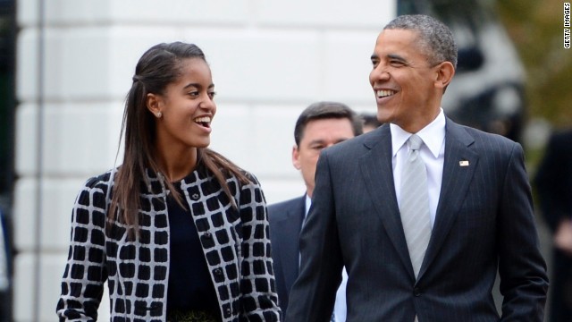
M306 124L299 147L292 148L292 163L302 172L308 196L312 197L314 191L315 165L320 151L353 137L354 131L347 118L314 120Z

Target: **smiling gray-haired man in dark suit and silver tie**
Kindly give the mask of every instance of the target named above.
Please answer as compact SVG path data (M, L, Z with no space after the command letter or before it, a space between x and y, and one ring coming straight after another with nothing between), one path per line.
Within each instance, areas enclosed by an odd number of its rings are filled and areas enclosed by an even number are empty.
M449 28L400 16L371 58L384 124L320 155L286 321L326 321L344 266L348 322L542 321L548 279L523 149L443 114L457 64Z

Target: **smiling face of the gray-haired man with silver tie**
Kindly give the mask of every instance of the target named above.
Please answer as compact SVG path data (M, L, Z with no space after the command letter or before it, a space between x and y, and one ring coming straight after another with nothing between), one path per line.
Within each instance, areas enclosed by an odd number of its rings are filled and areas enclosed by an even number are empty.
M440 66L431 66L417 46L413 30L383 30L372 55L369 82L377 102L377 118L416 132L439 114Z

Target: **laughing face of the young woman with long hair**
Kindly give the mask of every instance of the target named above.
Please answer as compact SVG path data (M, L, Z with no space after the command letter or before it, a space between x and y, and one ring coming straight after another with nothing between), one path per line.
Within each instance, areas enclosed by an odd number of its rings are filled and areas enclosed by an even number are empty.
M214 84L208 64L200 58L184 60L181 76L163 95L149 94L147 106L156 118L156 142L171 149L206 148L216 113Z

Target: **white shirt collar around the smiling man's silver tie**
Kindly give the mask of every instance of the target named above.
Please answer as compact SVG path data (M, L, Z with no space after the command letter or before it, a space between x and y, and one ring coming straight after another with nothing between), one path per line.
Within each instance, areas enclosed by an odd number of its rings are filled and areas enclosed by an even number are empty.
M440 108L440 112L433 122L427 124L421 131L416 132L425 143L425 146L429 148L433 157L439 157L443 140L445 140L445 123L445 114L443 113L443 109ZM395 157L397 151L400 150L412 133L404 131L399 125L393 123L390 123L390 129L392 156Z

